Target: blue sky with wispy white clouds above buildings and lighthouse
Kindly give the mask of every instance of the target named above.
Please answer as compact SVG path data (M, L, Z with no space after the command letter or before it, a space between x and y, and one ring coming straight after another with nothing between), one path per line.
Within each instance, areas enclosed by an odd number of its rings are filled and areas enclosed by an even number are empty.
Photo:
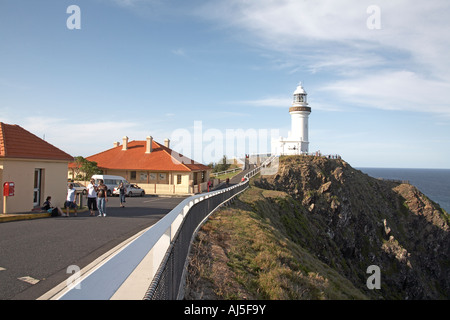
M310 151L450 168L449 16L446 0L2 0L0 121L73 156L152 135L207 163L227 151L212 133L286 137L301 81Z

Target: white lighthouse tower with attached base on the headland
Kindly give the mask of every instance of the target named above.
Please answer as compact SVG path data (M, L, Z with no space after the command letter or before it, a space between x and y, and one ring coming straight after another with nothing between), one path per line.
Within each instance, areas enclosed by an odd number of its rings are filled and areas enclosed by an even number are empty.
M308 106L307 93L300 83L294 91L294 101L289 108L291 131L287 138L280 138L275 143L273 152L278 155L297 155L308 153L308 118L311 108Z

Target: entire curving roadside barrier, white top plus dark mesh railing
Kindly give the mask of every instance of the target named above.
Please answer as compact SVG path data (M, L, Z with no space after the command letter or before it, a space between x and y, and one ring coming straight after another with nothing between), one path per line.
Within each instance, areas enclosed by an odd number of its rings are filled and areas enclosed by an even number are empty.
M249 179L271 159L248 172L244 176L245 181L239 184L183 200L153 226L113 248L92 266L75 273L74 279L67 279L40 299L150 300L182 297L187 257L198 229L212 212L247 189Z

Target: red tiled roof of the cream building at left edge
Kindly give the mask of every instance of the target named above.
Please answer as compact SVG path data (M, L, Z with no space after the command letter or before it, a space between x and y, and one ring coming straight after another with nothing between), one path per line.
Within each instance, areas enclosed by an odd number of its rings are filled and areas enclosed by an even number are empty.
M18 125L0 122L0 158L73 161L73 157Z

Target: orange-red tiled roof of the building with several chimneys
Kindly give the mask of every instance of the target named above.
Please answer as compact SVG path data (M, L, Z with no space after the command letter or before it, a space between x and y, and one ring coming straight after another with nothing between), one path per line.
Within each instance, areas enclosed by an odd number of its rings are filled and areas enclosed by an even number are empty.
M146 141L130 141L128 149L122 145L87 157L97 162L102 169L141 170L141 171L204 171L211 168L195 162L177 152L153 141L153 151L145 153Z

